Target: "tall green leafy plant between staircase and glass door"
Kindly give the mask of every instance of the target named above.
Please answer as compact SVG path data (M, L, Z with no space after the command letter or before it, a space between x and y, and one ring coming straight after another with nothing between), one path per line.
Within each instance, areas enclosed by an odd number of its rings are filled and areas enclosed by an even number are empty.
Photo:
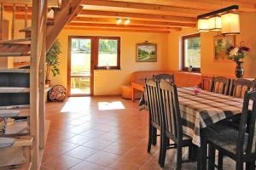
M61 54L61 43L56 40L49 51L46 54L46 77L45 84L50 86L49 75L52 73L53 77L60 74L60 69L58 68L60 64L59 54Z

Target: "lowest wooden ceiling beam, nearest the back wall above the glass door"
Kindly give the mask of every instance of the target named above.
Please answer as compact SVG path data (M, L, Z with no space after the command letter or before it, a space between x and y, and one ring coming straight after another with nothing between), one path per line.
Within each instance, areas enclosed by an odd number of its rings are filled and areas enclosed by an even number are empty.
M170 31L157 31L157 30L127 30L127 29L115 29L115 28L99 28L99 27L73 27L66 26L66 30L86 30L86 31L125 31L125 32L151 32L151 33L170 33Z

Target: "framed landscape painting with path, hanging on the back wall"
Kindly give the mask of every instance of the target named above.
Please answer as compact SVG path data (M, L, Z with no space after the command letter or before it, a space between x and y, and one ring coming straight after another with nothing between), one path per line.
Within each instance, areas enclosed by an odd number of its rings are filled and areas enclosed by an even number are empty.
M156 62L157 45L156 43L137 43L137 62Z

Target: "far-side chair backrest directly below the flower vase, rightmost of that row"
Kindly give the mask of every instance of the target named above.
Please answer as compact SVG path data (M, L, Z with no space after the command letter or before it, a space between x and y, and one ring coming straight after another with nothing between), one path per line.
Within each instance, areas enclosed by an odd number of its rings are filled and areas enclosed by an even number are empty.
M244 98L246 91L252 91L255 89L255 82L247 79L235 79L232 80L230 85L230 95L236 98Z

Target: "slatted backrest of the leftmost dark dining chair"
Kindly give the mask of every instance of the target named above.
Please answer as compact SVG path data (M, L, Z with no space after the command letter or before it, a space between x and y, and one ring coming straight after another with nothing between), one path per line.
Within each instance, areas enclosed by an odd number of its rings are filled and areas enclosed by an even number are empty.
M149 123L160 129L160 95L157 84L152 79L146 79L146 96L149 111Z

